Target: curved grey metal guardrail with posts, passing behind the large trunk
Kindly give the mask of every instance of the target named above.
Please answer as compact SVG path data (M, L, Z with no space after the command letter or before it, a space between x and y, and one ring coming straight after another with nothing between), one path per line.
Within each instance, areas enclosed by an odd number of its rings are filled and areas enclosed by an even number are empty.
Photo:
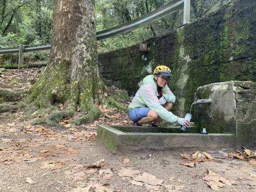
M110 29L102 30L97 32L97 39L106 39L109 37L114 37L117 35L121 35L132 31L134 29L138 29L142 26L148 25L154 21L162 19L167 15L177 12L179 10L184 9L183 14L183 24L186 24L190 20L190 1L195 0L173 0L166 5L159 7L158 9L143 15L140 18L134 19L130 22L124 23L123 25L119 25L117 27L113 27ZM33 51L42 51L51 49L51 44L41 44L41 45L28 45L28 46L16 46L16 47L6 47L0 49L0 54L8 54L8 53L19 53L19 63L18 69L21 67L22 63L22 53L33 52Z

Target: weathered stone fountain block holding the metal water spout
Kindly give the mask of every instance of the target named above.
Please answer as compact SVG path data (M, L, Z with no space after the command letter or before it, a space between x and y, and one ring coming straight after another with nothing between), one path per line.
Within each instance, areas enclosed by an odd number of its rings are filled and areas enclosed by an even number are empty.
M256 149L256 82L229 81L201 86L195 99L211 98L211 104L195 105L195 123L209 133L234 133L236 146Z

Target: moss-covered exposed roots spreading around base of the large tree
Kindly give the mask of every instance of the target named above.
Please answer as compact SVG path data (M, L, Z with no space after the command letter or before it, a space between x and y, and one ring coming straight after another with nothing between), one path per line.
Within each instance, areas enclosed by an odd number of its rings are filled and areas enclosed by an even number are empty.
M107 87L105 87L107 90ZM28 91L19 91L19 92L11 92L8 90L0 90L0 96L4 100L21 100L25 95L27 95ZM123 93L122 93L123 94ZM126 97L126 96L125 96ZM128 97L128 96L127 96ZM59 129L66 129L65 126L59 124L63 118L66 117L72 117L75 116L76 114L76 108L75 106L77 105L77 98L74 97L75 99L69 100L68 103L64 106L62 110L58 111L58 107L55 107L53 105L48 105L46 108L38 108L37 102L32 102L32 103L25 103L20 102L20 103L2 103L0 104L0 113L5 112L5 111L17 111L19 108L26 109L26 114L29 115L30 118L36 118L37 116L44 116L41 118L38 118L34 121L30 121L25 123L25 125L36 125L36 124L46 124L54 127L58 127ZM104 98L102 94L102 98ZM112 97L105 97L105 100L103 103L106 103L107 105L113 105L114 107L117 107L118 109L121 109L123 111L128 111L128 108L122 106L121 103L113 99ZM50 103L50 102L49 102ZM82 103L82 102L81 102ZM91 104L90 104L91 103ZM57 105L57 103L55 103ZM70 124L71 125L81 125L81 124L86 124L86 123L92 123L95 119L99 118L102 114L100 111L99 107L95 105L93 102L89 102L86 104L87 109L90 110L82 110L79 112L79 116L74 117L71 119ZM58 105L57 105L58 106ZM36 115L31 116L35 111L38 111ZM50 114L50 115L48 115ZM81 116L82 114L82 116ZM45 116L47 115L47 116Z

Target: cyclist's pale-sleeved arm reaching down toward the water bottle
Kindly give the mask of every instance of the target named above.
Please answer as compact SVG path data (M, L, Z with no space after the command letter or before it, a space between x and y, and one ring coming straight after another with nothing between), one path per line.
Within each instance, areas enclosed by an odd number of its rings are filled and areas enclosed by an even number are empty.
M143 85L141 87L141 98L145 102L148 108L156 111L156 113L165 121L170 123L177 122L178 117L175 116L172 112L166 110L163 106L161 106L158 102L158 98L156 96L154 87L151 85ZM175 97L175 96L174 96Z

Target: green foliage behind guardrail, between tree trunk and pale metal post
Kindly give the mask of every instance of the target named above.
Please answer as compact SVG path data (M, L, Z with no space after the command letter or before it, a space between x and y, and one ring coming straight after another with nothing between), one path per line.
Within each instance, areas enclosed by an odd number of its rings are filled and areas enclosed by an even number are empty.
M122 25L123 23L134 20L145 15L159 6L170 1L165 0L100 0L96 1L96 23L97 31L105 30L111 27ZM167 29L168 28L168 29ZM165 30L167 29L167 30ZM150 37L166 33L170 30L170 26L166 25L166 20L162 19L133 30L130 33L117 37L104 39L98 42L98 52L108 52L120 49L125 46L134 45L136 43L147 40Z

